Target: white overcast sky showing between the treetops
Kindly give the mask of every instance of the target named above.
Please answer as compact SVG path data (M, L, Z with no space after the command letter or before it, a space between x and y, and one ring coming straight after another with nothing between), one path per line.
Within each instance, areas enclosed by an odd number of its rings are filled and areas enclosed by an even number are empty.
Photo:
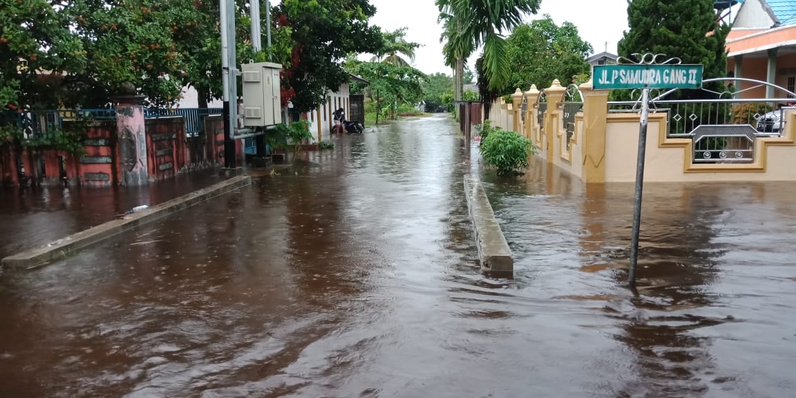
M439 43L442 27L437 25L439 10L434 0L370 0L377 7L376 16L371 19L374 25L393 30L406 26L408 41L423 44L417 50L415 67L426 73L444 72L451 69L443 61L443 45ZM606 49L616 53L616 43L627 29L626 0L541 0L537 15L529 15L526 20L541 18L550 14L556 24L570 21L575 24L583 40L591 43L595 53ZM366 59L366 57L362 57ZM470 60L474 64L476 56Z

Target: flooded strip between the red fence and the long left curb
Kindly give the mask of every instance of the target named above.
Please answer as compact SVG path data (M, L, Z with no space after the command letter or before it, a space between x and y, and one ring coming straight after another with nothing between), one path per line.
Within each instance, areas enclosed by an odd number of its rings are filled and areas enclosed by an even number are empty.
M225 179L199 170L143 187L0 188L0 258L113 220L138 205L157 205Z

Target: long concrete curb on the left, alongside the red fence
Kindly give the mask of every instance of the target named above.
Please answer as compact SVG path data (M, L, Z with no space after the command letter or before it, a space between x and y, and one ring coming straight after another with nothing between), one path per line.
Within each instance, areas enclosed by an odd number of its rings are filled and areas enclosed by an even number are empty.
M251 183L252 178L249 176L229 178L228 180L210 185L207 188L193 191L192 193L176 197L170 201L165 201L160 205L154 205L139 213L133 213L131 217L127 219L108 221L105 224L100 224L96 227L88 228L63 239L56 240L41 248L32 248L25 252L17 253L14 256L8 256L2 259L2 266L14 268L35 267L56 259L64 259L81 249L88 248L93 244L98 244L111 236L129 231L141 224L157 220L158 218L165 217L178 210L196 205L202 201L207 201L208 199L223 195L224 193L239 189Z

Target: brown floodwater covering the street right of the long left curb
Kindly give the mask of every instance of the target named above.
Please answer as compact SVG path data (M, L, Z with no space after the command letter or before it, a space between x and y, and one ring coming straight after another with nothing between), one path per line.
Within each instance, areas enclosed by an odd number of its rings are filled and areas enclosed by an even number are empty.
M443 117L0 279L0 396L792 396L796 185L498 180ZM473 150L473 154L476 149ZM480 275L462 175L517 255Z

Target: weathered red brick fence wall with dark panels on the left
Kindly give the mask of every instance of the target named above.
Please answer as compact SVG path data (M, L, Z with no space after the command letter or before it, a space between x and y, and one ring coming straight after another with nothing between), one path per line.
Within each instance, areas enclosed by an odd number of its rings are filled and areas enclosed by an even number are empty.
M70 123L64 121L63 123ZM0 145L0 185L118 185L122 178L115 119L88 122L80 156L64 150ZM221 115L201 116L201 131L186 135L183 116L146 119L146 160L150 181L172 178L185 170L223 164ZM237 141L238 162L244 148Z

